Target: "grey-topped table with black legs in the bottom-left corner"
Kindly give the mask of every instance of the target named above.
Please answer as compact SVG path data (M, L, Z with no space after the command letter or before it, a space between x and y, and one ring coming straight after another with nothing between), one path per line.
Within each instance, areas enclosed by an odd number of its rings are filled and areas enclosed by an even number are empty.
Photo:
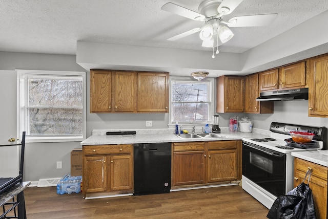
M18 218L26 219L26 210L25 210L25 199L24 199L24 190L31 184L31 182L20 182L12 186L10 189L0 194L0 206L5 205L9 201L12 201L15 196L17 196L16 202L12 206L0 215L0 218L6 218L8 214L15 207L18 208Z

